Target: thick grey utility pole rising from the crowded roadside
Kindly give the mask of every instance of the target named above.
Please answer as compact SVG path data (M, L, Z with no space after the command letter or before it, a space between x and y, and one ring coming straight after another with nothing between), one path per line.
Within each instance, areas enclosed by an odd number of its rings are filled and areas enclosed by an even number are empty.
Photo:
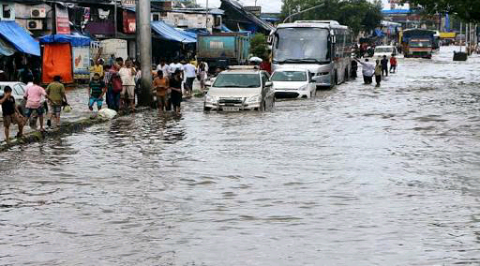
M150 106L152 102L152 26L150 0L137 0L137 39L142 67L141 88L138 97L140 106Z

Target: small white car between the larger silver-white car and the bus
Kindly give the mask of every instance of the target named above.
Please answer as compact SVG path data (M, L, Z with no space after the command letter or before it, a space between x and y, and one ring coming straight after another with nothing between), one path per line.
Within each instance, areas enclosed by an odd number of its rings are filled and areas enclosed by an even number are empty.
M282 69L272 74L276 98L313 98L317 86L308 70Z

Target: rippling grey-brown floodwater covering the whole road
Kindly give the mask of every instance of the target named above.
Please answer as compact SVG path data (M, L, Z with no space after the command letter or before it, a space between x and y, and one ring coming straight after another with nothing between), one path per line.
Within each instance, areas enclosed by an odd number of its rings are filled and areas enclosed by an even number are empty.
M480 57L0 154L1 265L480 264Z

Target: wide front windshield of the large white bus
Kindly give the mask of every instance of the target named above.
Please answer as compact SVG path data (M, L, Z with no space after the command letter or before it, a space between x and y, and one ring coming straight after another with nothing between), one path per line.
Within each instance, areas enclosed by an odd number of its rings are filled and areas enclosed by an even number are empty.
M284 28L276 32L273 47L275 63L328 63L327 29L320 28Z

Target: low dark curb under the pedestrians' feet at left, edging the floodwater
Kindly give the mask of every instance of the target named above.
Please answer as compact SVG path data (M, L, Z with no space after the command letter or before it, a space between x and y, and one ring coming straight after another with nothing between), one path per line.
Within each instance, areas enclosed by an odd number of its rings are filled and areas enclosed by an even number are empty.
M135 113L141 113L150 110L151 108L149 107L141 107L137 108L135 110ZM47 138L53 138L53 137L59 137L62 135L67 135L67 134L72 134L75 132L79 132L84 130L85 128L97 125L97 124L102 124L106 123L109 121L116 120L120 117L127 116L127 114L121 114L115 116L113 119L105 119L105 118L82 118L80 120L74 121L74 122L62 122L59 128L47 131L47 132L40 132L40 131L34 131L28 134L25 134L23 137L19 139L12 140L11 143L3 143L0 144L0 153L4 152L12 147L19 146L19 145L24 145L24 144L30 144L30 143L35 143L35 142L42 142Z

